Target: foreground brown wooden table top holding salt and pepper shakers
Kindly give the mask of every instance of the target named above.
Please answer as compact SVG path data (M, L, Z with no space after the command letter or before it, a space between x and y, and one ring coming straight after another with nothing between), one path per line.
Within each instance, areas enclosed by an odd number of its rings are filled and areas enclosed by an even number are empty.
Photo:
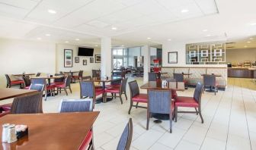
M78 149L89 130L91 130L99 113L99 111L94 111L5 115L1 117L0 124L14 123L27 125L28 136L24 136L11 144L2 143L2 148L26 150ZM0 131L2 133L2 127ZM2 140L2 136L0 136L0 139Z

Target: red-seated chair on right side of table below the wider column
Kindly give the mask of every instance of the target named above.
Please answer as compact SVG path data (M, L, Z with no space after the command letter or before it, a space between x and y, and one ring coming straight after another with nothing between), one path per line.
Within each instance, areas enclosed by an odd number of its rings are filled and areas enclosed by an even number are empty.
M120 97L120 101L121 104L123 104L123 99L122 99L122 94L124 94L126 96L126 100L127 100L127 95L126 95L126 83L127 83L128 78L124 78L122 80L122 85L121 86L111 86L110 88L105 89L105 98L107 98L107 93L110 92L112 94L112 98L113 98L113 94L116 97L116 94L118 93ZM104 99L104 102L106 102L106 99Z

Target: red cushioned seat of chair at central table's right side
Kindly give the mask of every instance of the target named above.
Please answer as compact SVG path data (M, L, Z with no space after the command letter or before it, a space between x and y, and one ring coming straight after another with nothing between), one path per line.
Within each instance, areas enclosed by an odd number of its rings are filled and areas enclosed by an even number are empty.
M198 108L199 105L198 105L197 101L194 100L194 98L178 96L175 99L175 106L188 107L188 108Z

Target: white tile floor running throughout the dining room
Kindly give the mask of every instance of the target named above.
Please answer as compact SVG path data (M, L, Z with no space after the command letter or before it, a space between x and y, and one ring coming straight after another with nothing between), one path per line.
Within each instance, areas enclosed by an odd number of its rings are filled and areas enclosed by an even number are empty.
M142 79L137 80L142 85ZM79 98L78 83L72 84L72 90L68 96L62 93L48 98L43 102L43 111L57 112L62 98ZM193 92L194 88L189 88L178 95L192 96ZM130 117L134 129L131 149L256 149L256 86L251 80L229 78L226 91L219 91L216 95L204 92L204 123L200 123L200 117L195 114L180 114L178 122L173 122L173 133L168 133L168 120L155 124L151 119L147 131L146 109L133 108L129 115L129 90L127 95L128 101L123 105L117 98L95 106L94 111L101 111L94 123L96 149L116 149Z

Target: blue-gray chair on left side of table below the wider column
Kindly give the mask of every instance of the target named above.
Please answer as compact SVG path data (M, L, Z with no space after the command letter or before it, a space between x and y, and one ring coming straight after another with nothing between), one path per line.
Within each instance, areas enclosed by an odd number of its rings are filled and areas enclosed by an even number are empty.
M104 98L104 92L104 89L95 89L94 82L91 80L80 81L80 98L92 98L95 104L96 96L102 95Z

